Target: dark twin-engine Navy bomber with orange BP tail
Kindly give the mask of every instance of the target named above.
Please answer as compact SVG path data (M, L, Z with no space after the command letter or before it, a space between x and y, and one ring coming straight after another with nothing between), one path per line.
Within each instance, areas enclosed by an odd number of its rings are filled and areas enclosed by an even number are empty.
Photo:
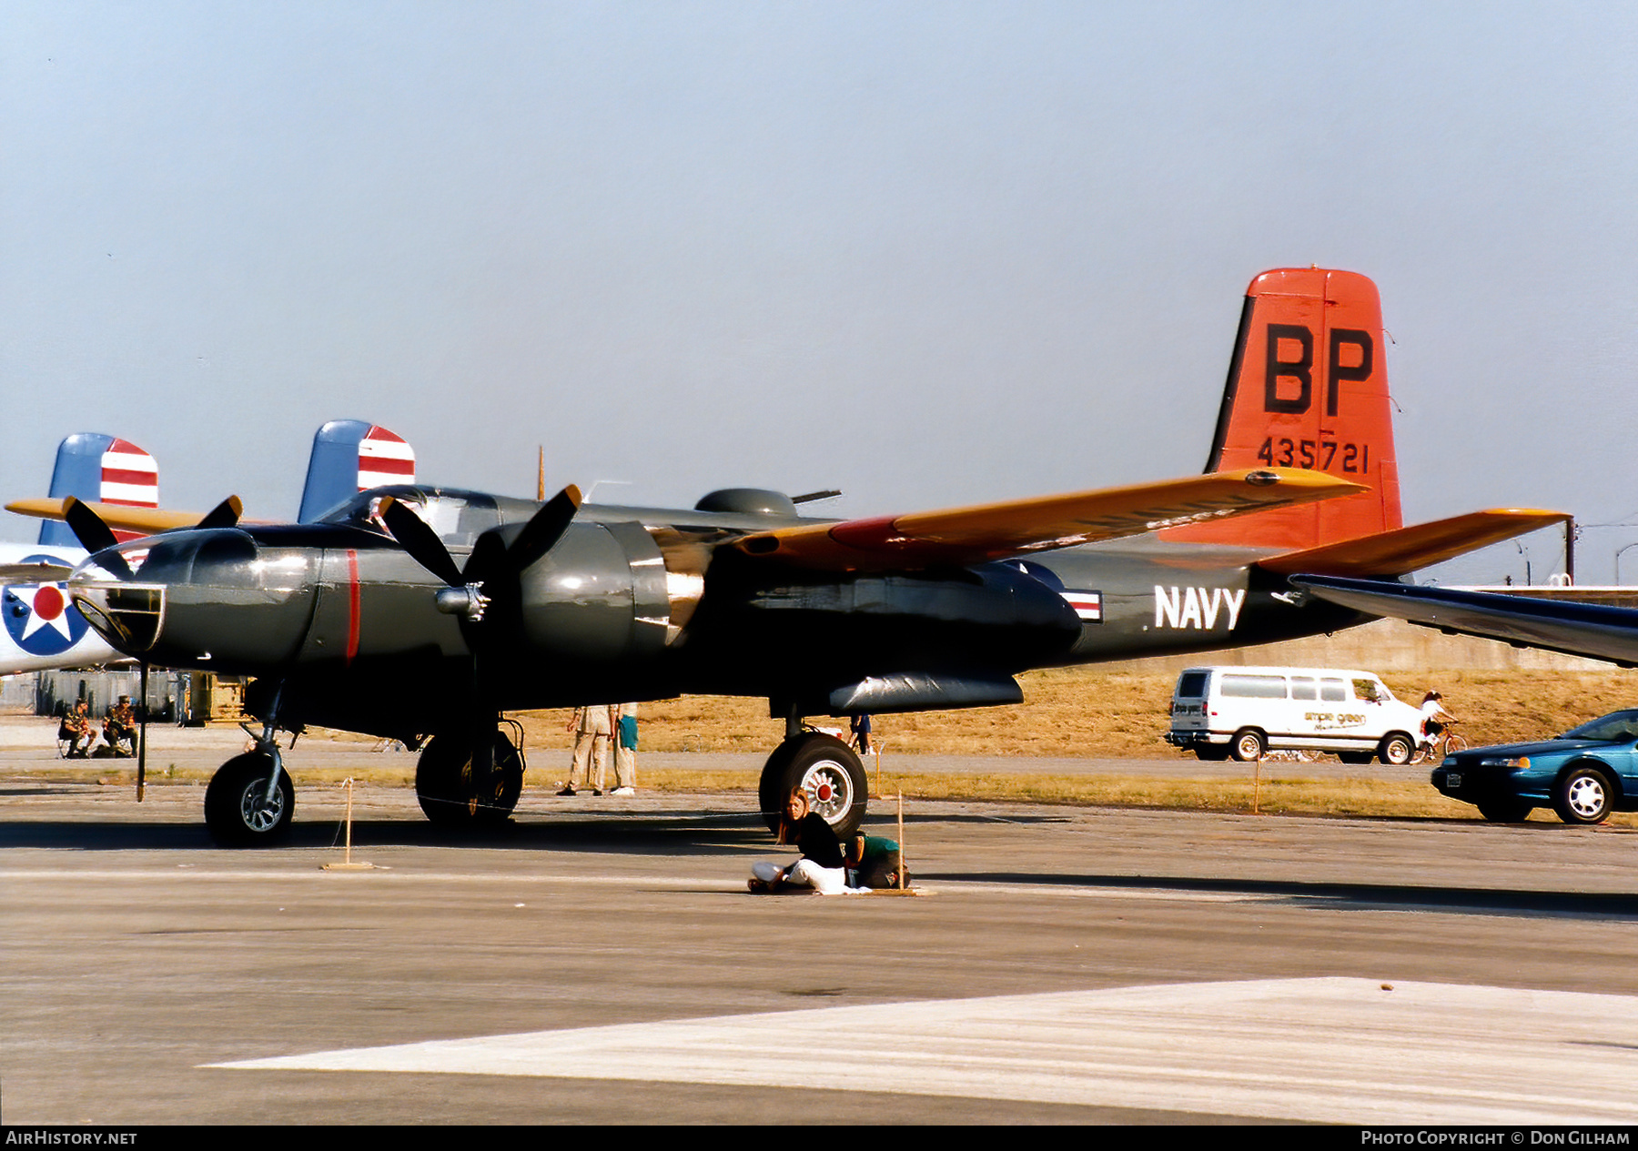
M1556 522L1400 527L1381 336L1364 277L1256 277L1194 478L844 522L744 488L662 511L396 485L314 524L213 512L136 545L69 503L93 552L69 586L134 658L256 676L262 738L205 801L224 843L288 828L278 729L403 738L431 819L506 819L523 771L501 712L680 693L767 697L786 738L762 810L803 789L847 832L863 770L808 715L1011 704L1027 668L1330 632L1369 616L1287 573L1396 576Z

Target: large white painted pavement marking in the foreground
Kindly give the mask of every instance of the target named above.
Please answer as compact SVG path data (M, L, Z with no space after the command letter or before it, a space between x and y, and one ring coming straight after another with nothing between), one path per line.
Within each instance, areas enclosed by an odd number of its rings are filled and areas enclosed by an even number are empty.
M1263 979L824 1007L213 1064L885 1090L1333 1123L1638 1122L1638 999ZM835 1051L834 1059L804 1051Z

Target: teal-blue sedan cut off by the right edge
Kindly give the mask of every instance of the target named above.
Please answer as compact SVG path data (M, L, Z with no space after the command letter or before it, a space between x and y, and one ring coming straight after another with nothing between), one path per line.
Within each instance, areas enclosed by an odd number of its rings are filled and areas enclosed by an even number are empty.
M1477 747L1445 756L1433 786L1499 824L1548 807L1566 824L1638 810L1638 707L1610 712L1541 743Z

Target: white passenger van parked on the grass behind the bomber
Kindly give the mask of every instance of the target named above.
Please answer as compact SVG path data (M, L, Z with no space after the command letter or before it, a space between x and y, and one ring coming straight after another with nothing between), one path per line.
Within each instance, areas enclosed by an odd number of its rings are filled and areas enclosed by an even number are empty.
M1409 763L1422 712L1371 671L1189 668L1171 694L1166 742L1202 760L1256 760L1273 748L1335 752L1343 763Z

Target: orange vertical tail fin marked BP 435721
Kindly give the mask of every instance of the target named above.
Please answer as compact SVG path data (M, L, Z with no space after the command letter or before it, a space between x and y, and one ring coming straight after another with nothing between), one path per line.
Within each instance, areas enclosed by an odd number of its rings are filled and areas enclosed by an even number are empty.
M1165 539L1310 548L1400 527L1391 403L1376 285L1328 269L1261 273L1245 293L1206 470L1314 468L1371 490Z

